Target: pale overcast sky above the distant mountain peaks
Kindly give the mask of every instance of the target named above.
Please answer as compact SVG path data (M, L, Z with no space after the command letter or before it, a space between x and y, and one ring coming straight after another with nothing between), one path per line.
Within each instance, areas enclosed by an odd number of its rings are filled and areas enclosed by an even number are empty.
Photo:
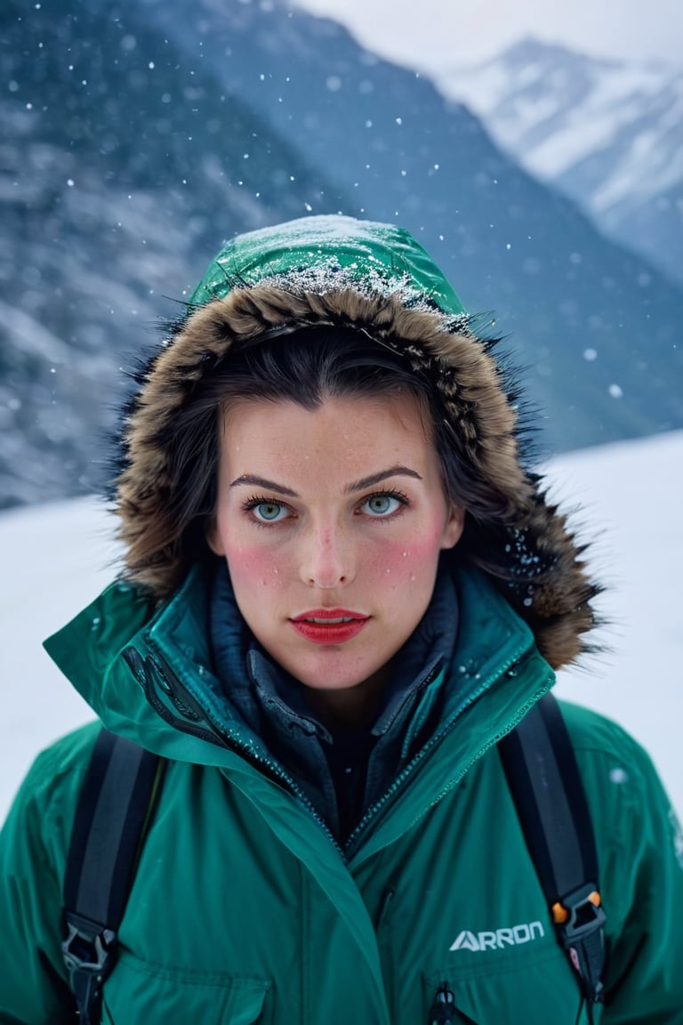
M467 64L535 35L584 53L683 67L681 0L296 0L381 56L427 70Z

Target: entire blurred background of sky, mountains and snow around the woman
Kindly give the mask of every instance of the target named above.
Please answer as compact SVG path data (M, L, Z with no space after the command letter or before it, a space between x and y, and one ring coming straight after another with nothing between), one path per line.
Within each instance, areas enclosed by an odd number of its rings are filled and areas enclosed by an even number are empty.
M667 710L683 656L682 20L678 0L4 0L8 793L87 712L39 645L113 572L99 514L71 502L101 485L125 368L225 239L340 211L408 228L523 368L540 458L606 538L622 603L616 654L565 686L635 728L683 797Z

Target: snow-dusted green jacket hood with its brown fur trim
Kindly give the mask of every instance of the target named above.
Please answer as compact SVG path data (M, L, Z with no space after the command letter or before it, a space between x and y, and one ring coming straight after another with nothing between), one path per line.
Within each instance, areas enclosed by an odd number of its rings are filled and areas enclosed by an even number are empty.
M474 495L457 558L494 579L551 665L573 660L594 625L597 587L564 517L526 466L518 395L494 343L478 338L472 324L424 249L392 225L305 217L229 242L138 375L125 410L113 497L126 576L161 601L189 568L168 438L212 369L265 333L347 326L429 376Z

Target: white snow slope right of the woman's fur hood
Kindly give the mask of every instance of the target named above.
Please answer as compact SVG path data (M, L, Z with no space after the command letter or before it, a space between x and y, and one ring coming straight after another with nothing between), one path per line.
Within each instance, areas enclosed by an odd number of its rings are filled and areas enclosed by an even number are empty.
M683 811L680 740L683 630L683 432L585 450L550 471L565 507L581 505L581 533L607 590L600 610L609 649L560 673L558 695L625 726L650 752ZM584 526L585 525L585 526Z

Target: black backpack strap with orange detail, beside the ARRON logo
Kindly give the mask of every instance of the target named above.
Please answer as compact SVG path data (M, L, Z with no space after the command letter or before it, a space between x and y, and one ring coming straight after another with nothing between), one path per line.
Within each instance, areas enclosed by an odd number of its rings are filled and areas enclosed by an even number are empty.
M602 1000L604 911L593 825L559 705L546 694L499 743L526 846L592 1019Z

